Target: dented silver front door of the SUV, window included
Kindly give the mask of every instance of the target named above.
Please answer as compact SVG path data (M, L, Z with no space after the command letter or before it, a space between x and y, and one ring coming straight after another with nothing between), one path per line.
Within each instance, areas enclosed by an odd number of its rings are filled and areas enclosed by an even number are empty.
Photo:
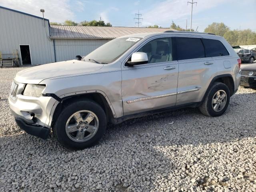
M122 66L124 116L175 106L178 62L172 58L172 38L156 38L137 52L145 52L148 63Z

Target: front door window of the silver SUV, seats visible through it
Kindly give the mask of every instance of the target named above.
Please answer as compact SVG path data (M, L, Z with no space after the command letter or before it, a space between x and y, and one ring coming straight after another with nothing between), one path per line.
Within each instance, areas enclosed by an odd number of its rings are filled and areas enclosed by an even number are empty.
M148 63L172 61L172 38L154 39L137 52L146 53L148 55Z

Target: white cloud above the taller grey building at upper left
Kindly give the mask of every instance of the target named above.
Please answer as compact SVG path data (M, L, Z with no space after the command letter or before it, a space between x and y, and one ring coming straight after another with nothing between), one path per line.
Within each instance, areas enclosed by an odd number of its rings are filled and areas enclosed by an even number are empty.
M44 17L50 22L74 19L74 12L70 10L68 0L4 0L1 1L0 6L40 17L42 17L40 9L44 9Z

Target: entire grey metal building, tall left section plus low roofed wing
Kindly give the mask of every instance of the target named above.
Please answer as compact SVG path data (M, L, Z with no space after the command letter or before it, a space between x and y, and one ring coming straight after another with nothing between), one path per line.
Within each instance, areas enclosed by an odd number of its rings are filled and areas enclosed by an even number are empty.
M164 32L170 28L58 26L24 12L0 6L0 59L17 52L20 64L46 64L85 56L120 36Z

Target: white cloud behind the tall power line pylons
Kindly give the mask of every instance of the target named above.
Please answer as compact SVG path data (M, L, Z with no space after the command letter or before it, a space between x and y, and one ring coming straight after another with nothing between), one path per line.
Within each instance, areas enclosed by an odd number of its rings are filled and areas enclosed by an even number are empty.
M214 0L214 3L212 3L212 0L197 0L197 2L197 6L195 6L195 4L193 6L193 14L218 6L224 1ZM225 3L226 2L227 0ZM181 18L188 18L189 20L191 14L191 4L187 5L187 1L184 0L165 0L163 2L153 4L150 9L142 10L142 13L144 13L142 15L144 18L144 26L152 24L166 26L166 24L170 25L172 20L175 21Z

